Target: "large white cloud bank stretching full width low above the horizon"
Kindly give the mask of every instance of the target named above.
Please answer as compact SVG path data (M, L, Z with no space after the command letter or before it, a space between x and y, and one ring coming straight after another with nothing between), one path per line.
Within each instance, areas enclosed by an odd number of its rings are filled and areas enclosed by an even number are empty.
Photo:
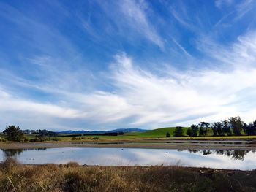
M140 68L125 54L117 55L110 72L105 74L112 91L73 89L69 78L65 80L63 73L56 73L53 85L45 83L33 87L53 94L58 100L54 104L31 101L1 88L0 113L7 122L17 117L32 118L35 124L39 122L40 126L48 127L50 123L38 117L70 122L85 120L98 127L146 128L188 126L200 120L223 120L234 115L241 115L246 122L252 121L256 113L255 47L256 33L253 32L238 37L236 43L227 47L202 42L200 50L211 57L208 62L214 62L214 66L219 63L219 68L178 72L159 65L165 72L162 74ZM73 78L77 78L74 82L79 82L83 77ZM67 86L57 86L58 79ZM15 116L4 115L7 112ZM57 127L58 122L54 123Z

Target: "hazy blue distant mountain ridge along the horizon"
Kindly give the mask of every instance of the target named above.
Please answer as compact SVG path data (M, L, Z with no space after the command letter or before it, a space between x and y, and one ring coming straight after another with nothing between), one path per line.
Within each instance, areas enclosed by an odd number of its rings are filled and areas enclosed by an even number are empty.
M72 131L72 130L67 130L67 131L56 131L58 134L105 134L105 133L115 133L115 132L124 132L124 133L129 133L129 132L145 132L148 131L146 129L141 129L141 128L117 128L109 131L85 131L85 130L80 130L80 131Z

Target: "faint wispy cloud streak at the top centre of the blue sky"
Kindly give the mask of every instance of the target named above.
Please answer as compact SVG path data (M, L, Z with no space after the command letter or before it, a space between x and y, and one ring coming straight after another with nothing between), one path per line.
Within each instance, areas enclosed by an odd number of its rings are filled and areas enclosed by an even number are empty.
M104 3L98 2L99 6L108 16L108 25L105 27L106 34L113 31L128 39L147 39L154 45L164 50L165 42L159 35L155 23L151 23L148 18L148 12L153 12L150 5L146 1L109 1ZM110 12L115 9L115 12ZM110 22L111 21L111 22ZM105 23L105 25L106 25ZM86 22L86 28L91 31L91 26Z

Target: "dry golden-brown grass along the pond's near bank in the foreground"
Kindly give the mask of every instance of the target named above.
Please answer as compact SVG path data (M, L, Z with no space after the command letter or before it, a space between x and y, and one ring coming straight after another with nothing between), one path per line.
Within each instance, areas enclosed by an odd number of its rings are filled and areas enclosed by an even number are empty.
M179 166L0 164L0 191L256 191L256 171Z

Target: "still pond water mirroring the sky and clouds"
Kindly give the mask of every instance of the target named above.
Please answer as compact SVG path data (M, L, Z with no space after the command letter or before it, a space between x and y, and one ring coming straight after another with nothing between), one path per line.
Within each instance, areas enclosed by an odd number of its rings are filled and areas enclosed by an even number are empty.
M0 150L0 161L16 158L23 164L79 164L106 166L180 165L219 169L256 169L255 150L153 150L121 148L46 148Z

